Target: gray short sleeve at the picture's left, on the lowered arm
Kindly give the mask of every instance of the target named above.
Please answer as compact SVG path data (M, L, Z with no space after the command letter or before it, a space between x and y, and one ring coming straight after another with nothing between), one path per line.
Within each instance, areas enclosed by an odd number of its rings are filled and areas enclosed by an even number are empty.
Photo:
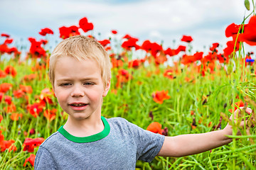
M38 152L36 153L34 169L35 170L57 169L50 152L42 146L39 147Z

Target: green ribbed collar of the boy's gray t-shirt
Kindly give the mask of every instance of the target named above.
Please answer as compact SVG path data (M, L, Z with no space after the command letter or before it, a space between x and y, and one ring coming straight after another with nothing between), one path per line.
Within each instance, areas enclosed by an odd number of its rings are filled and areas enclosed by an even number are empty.
M110 134L110 124L107 123L107 120L104 117L101 117L102 122L104 124L104 130L102 130L102 132L99 132L95 135L91 135L91 136L87 136L87 137L75 137L73 135L71 135L69 132L67 132L63 126L61 126L58 129L58 132L60 132L60 134L62 134L65 138L67 138L68 140L71 140L73 142L77 142L77 143L87 143L87 142L95 142L97 140L101 140L104 137L107 137L107 135Z

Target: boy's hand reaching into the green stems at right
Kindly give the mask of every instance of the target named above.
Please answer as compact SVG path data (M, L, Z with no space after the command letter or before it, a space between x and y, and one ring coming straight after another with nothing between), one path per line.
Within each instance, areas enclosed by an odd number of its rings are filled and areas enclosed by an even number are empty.
M244 108L244 107L240 107L241 110L245 109L245 113L247 113L248 115L250 115L250 113L252 113L252 109L251 108ZM247 118L246 121L244 121L242 117L242 113L240 111L240 109L238 108L231 116L230 116L230 121L232 122L234 119L235 123L238 123L238 121L240 121L240 127L244 126L245 123L247 123ZM228 125L226 125L226 127L223 129L225 131L225 133L227 135L233 135L233 129L232 129L232 125L230 125L230 123L228 123ZM238 134L240 135L240 131L238 131Z

